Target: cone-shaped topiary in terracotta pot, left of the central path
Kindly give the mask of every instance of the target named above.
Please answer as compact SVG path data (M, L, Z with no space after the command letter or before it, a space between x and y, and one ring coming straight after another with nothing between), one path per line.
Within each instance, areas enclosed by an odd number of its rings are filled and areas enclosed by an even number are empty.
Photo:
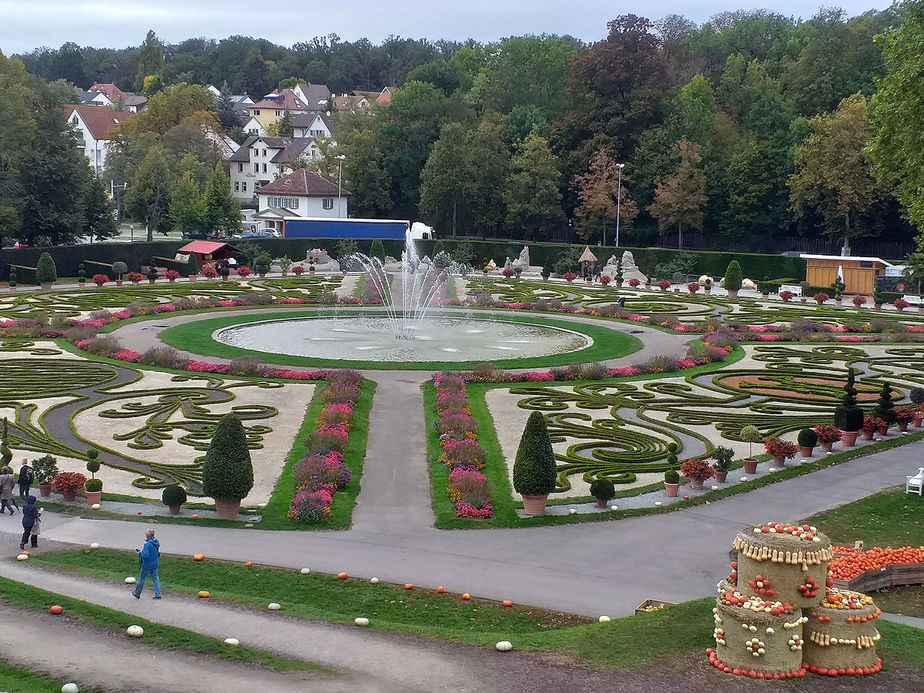
M202 463L202 492L215 499L219 519L233 520L252 488L253 462L244 424L236 414L225 414L215 427Z

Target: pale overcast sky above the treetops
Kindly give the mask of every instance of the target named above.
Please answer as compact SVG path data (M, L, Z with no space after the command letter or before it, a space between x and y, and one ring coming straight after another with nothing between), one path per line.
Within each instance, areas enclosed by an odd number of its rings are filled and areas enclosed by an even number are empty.
M815 0L776 0L773 10L807 18L821 4ZM832 0L826 4L841 6L855 15L883 9L890 2ZM0 50L10 55L39 46L57 48L66 41L98 48L137 46L149 28L168 43L240 34L291 45L330 33L344 40L367 37L375 43L389 34L489 41L555 33L593 41L605 35L606 22L620 13L633 12L651 19L679 13L703 22L717 12L768 5L741 0L0 0Z

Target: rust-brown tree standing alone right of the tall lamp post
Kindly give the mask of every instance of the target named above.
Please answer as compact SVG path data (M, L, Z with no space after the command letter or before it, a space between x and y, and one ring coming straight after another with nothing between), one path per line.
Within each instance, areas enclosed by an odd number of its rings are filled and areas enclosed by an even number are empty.
M658 222L662 235L677 227L677 247L683 247L683 228L700 229L706 196L706 176L699 167L700 147L688 140L677 143L680 163L670 176L659 178L648 213Z

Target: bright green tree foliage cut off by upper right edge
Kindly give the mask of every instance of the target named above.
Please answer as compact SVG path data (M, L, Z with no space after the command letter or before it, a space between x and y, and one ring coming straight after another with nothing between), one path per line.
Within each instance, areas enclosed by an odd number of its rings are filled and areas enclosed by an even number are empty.
M918 230L924 251L924 3L902 5L904 23L882 37L886 74L873 97L872 154L881 175Z

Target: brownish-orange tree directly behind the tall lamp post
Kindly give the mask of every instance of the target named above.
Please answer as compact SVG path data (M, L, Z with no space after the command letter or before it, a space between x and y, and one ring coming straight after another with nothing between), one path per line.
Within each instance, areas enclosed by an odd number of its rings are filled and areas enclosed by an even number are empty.
M575 176L574 188L580 205L574 214L578 219L577 233L581 239L590 240L601 229L605 243L607 224L615 227L617 212L623 228L630 228L638 216L638 207L626 186L628 179L625 172L620 173L620 166L624 164L617 164L606 150L601 149L591 161L590 168Z

